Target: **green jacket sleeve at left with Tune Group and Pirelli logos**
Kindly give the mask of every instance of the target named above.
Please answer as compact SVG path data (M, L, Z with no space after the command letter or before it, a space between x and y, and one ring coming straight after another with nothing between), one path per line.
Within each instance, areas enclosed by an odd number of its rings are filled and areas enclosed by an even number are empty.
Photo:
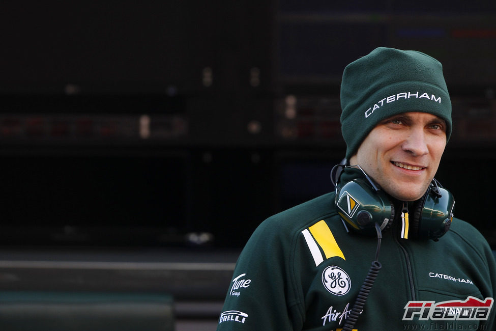
M295 330L302 314L291 298L289 234L267 220L244 247L226 295L217 330Z

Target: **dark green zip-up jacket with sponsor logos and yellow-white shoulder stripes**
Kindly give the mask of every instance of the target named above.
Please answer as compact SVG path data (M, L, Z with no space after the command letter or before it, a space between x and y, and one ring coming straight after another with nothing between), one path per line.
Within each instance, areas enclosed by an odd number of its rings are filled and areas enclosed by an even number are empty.
M496 265L483 236L456 218L438 242L401 239L399 230L393 224L383 233L382 268L354 329L493 330L492 306L466 313L485 321L419 320L429 309L405 309L409 301L460 303L469 296L492 304ZM346 231L334 192L268 218L239 257L218 330L340 330L376 246L377 238ZM403 320L407 313L412 318Z

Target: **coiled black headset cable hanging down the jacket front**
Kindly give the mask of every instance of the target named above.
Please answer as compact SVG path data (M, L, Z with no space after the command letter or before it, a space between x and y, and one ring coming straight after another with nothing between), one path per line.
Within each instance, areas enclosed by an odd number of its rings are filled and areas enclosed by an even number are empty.
M382 232L379 225L375 224L375 230L377 231L377 249L375 251L375 261L372 262L370 269L367 273L367 277L358 292L357 299L355 300L355 304L353 305L352 311L349 313L348 318L346 318L346 322L343 327L343 331L352 331L355 323L358 320L358 317L363 311L363 307L365 306L365 302L367 301L367 297L372 289L372 285L374 285L375 279L377 278L377 274L379 273L379 269L381 269L381 263L378 261L379 251L381 250L381 239Z

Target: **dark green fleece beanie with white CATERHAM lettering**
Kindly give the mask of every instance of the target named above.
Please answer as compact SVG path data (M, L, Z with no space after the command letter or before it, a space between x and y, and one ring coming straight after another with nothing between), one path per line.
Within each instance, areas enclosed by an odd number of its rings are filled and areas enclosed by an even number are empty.
M443 66L419 51L378 47L346 66L341 81L341 131L346 159L381 121L424 112L446 121L451 135L451 101Z

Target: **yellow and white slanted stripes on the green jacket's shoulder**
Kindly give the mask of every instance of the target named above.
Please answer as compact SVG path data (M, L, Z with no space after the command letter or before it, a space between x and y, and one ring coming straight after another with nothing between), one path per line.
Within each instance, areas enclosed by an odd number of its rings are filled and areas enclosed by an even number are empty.
M315 266L335 256L346 260L325 220L319 220L301 233L315 261Z

